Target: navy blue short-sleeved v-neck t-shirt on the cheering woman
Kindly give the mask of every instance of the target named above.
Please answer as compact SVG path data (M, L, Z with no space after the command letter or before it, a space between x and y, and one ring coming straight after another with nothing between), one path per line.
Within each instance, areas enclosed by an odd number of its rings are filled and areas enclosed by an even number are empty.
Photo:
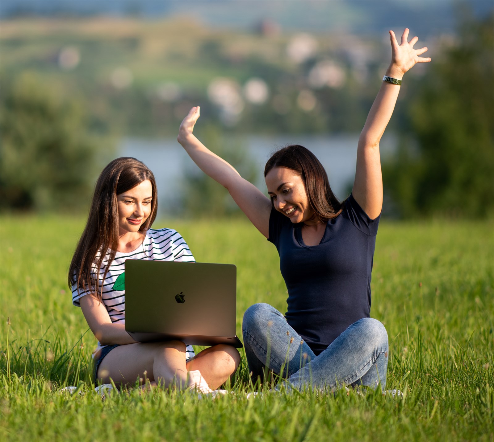
M274 208L269 238L280 255L288 289L288 324L316 355L345 329L371 313L371 271L379 217L371 220L350 195L326 224L321 243L306 246L303 223Z

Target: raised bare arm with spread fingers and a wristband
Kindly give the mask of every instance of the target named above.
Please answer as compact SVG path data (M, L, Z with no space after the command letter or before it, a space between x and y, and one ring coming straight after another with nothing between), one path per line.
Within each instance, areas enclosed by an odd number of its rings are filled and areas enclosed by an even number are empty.
M405 29L398 44L393 31L391 37L391 64L386 76L401 80L403 75L415 65L426 63L430 58L419 57L427 48L413 49L418 37L408 41L409 29ZM360 134L357 148L357 168L352 194L360 207L371 218L376 218L382 208L382 174L379 156L379 142L393 114L400 85L388 81L382 82L377 97L367 116L366 124Z

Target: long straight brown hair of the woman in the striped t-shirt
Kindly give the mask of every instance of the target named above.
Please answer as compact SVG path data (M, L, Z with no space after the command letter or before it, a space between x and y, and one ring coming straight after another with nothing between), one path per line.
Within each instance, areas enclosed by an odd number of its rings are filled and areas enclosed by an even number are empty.
M139 228L142 232L151 227L158 208L158 193L153 172L143 162L127 156L114 159L103 169L94 188L86 226L70 263L69 287L76 284L78 289L90 291L101 300L103 287L99 287L99 276L103 259L109 252L110 256L103 273L104 281L118 248L117 195L146 180L152 184L153 199L151 213Z

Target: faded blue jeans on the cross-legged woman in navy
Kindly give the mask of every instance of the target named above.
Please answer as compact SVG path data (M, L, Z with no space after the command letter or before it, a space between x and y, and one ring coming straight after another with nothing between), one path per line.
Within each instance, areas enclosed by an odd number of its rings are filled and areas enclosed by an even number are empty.
M380 383L384 391L386 386L388 333L376 319L353 323L318 356L269 304L247 309L242 332L252 378L269 368L286 379L276 389L335 391L344 385L376 388Z

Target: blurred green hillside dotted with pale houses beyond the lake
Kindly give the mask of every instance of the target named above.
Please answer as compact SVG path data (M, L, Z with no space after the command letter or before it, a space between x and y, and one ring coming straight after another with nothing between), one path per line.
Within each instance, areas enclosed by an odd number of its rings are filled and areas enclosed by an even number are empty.
M2 23L0 73L35 70L87 98L93 126L133 137L175 137L196 105L202 124L230 133L358 132L389 61L389 43L339 31L263 35L187 18L50 23ZM210 88L221 79L231 87L218 103ZM264 99L247 93L255 79Z

